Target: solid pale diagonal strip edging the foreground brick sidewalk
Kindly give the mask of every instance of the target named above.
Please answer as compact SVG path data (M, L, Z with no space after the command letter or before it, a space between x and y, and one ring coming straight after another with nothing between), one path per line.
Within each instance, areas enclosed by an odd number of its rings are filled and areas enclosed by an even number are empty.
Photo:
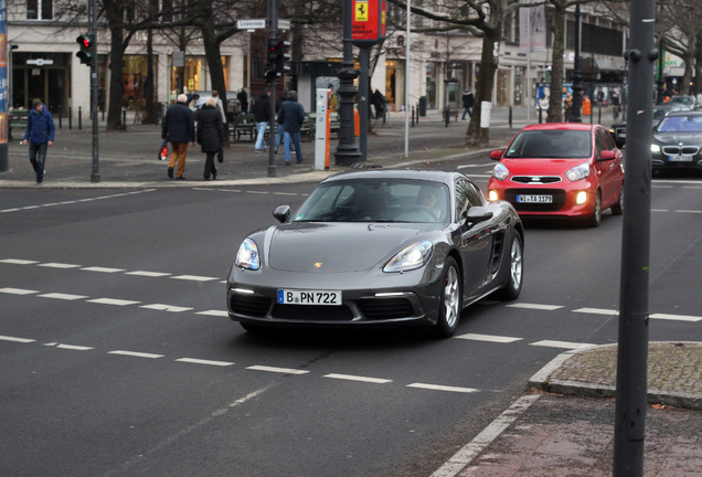
M502 414L490 423L470 443L466 444L439 467L430 477L455 477L468 464L472 462L492 441L502 434L514 421L535 403L540 394L525 395L509 406Z

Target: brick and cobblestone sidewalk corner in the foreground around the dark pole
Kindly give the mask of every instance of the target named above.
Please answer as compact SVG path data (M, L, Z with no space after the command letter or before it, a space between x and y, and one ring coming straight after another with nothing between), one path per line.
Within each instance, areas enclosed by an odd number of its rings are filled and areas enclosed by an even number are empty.
M609 477L617 347L571 351L432 477ZM644 475L702 476L702 343L650 342Z

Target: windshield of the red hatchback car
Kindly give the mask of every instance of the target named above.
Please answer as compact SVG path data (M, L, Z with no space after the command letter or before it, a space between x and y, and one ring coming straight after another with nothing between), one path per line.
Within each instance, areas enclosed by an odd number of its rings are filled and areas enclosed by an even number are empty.
M592 156L588 130L539 129L523 130L510 144L506 158L570 159Z

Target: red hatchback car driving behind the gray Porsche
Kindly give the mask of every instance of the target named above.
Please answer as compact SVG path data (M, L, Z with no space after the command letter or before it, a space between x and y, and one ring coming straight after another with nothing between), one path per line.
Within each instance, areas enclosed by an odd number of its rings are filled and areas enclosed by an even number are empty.
M598 226L602 211L624 212L624 159L600 125L526 126L506 150L488 183L488 199L510 202L521 216L582 218Z

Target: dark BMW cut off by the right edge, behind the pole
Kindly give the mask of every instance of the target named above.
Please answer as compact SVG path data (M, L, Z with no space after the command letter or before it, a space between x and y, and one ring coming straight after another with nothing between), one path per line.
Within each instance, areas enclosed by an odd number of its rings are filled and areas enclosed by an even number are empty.
M653 129L653 170L702 169L702 112L670 113Z

